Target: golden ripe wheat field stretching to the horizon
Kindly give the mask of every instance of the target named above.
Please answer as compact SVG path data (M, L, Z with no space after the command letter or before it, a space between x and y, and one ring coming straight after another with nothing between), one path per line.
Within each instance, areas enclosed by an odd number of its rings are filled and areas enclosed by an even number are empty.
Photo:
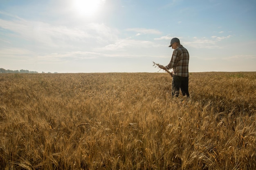
M0 169L256 169L256 72L0 74Z

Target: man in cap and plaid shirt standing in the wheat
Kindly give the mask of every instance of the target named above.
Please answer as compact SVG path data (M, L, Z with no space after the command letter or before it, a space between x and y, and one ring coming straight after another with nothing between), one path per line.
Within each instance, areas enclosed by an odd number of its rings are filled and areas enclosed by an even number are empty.
M172 96L178 97L181 90L183 96L189 97L189 52L178 38L171 39L169 47L174 49L171 61L165 67L159 65L159 68L173 68Z

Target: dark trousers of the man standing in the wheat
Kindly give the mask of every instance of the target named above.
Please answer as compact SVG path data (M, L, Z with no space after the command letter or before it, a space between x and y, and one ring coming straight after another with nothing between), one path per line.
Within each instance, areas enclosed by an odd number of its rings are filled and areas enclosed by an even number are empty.
M189 97L189 77L173 75L172 96L178 97L180 90L183 96Z

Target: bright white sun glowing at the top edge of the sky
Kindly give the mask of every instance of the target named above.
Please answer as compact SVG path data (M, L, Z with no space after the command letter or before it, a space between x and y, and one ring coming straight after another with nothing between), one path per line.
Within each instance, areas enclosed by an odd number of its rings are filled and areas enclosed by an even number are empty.
M74 9L77 14L91 17L97 13L105 0L74 0Z

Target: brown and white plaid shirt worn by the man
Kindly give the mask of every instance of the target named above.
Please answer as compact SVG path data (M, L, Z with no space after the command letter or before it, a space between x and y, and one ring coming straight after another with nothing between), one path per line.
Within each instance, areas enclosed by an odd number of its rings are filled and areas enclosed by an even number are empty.
M173 68L173 75L189 77L189 52L182 45L177 46L173 51L170 63L166 69Z

